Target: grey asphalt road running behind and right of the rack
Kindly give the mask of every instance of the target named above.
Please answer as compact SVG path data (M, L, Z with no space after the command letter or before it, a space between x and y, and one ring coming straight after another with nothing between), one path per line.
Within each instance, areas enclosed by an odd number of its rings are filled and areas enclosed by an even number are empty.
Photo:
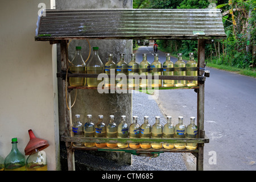
M142 53L154 61L152 47L140 47L136 52L138 63ZM158 51L159 61L165 53ZM171 61L177 59L171 57ZM210 77L205 81L205 135L210 142L204 147L204 170L256 170L256 79L237 73L207 68ZM197 94L189 90L160 90L155 98L164 115L196 117Z

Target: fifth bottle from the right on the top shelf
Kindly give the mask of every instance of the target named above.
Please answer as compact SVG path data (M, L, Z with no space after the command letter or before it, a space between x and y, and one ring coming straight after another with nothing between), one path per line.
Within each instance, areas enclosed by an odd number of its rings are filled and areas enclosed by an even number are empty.
M146 77L150 73L150 63L147 61L147 54L143 53L142 61L139 63L139 75L141 77ZM139 86L142 88L147 87L147 79L139 80Z

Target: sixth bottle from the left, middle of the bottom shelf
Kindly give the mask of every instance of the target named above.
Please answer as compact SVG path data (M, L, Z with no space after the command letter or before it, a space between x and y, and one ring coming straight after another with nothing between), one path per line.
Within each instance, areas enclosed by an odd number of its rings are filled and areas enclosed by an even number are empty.
M136 115L133 116L133 123L129 128L129 137L130 138L141 138L141 126L137 123L138 117ZM129 143L130 148L139 148L139 143Z

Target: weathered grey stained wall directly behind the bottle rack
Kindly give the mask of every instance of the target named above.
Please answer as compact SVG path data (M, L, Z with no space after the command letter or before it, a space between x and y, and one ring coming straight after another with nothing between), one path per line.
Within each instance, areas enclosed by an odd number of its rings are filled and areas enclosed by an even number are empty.
M108 1L68 1L68 0L56 0L56 9L112 9L112 8L132 8L132 0L108 0ZM131 59L132 42L131 40L89 40L92 47L99 47L99 55L102 62L105 64L108 61L108 54L114 54L114 62L119 61L119 53L125 53L125 59L128 63ZM75 55L75 47L82 47L82 56L84 60L88 58L89 46L86 40L72 40L69 43L69 60L72 60ZM60 56L58 56L60 57ZM60 61L60 60L59 60ZM89 60L88 60L89 61ZM88 62L87 62L88 63ZM59 64L60 65L60 64ZM60 71L60 68L58 68ZM61 78L59 78L61 79ZM61 81L59 80L60 84ZM72 91L72 102L75 100L76 91ZM63 113L63 97L62 97L61 85L59 85L59 119L60 119L60 135L64 133L64 115ZM104 115L104 122L106 125L109 123L109 115L115 115L115 122L118 124L121 122L121 115L126 115L127 122L131 121L131 94L100 94L97 90L77 90L77 98L75 105L72 107L72 120L75 121L75 114L81 115L81 121L86 122L86 115L92 114L93 122L98 122L98 115ZM113 154L113 155L110 155ZM130 154L117 155L110 153L108 155L103 154L106 158L114 160L122 160L122 162L130 163ZM129 157L127 157L129 156Z

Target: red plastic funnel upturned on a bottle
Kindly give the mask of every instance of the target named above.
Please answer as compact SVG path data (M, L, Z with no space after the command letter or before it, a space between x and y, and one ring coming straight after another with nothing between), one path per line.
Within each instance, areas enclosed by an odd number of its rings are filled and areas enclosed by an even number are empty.
M28 130L28 134L30 135L30 141L27 143L27 146L24 150L25 155L30 155L35 150L35 148L38 148L38 151L41 151L49 146L47 140L36 138L31 129Z

